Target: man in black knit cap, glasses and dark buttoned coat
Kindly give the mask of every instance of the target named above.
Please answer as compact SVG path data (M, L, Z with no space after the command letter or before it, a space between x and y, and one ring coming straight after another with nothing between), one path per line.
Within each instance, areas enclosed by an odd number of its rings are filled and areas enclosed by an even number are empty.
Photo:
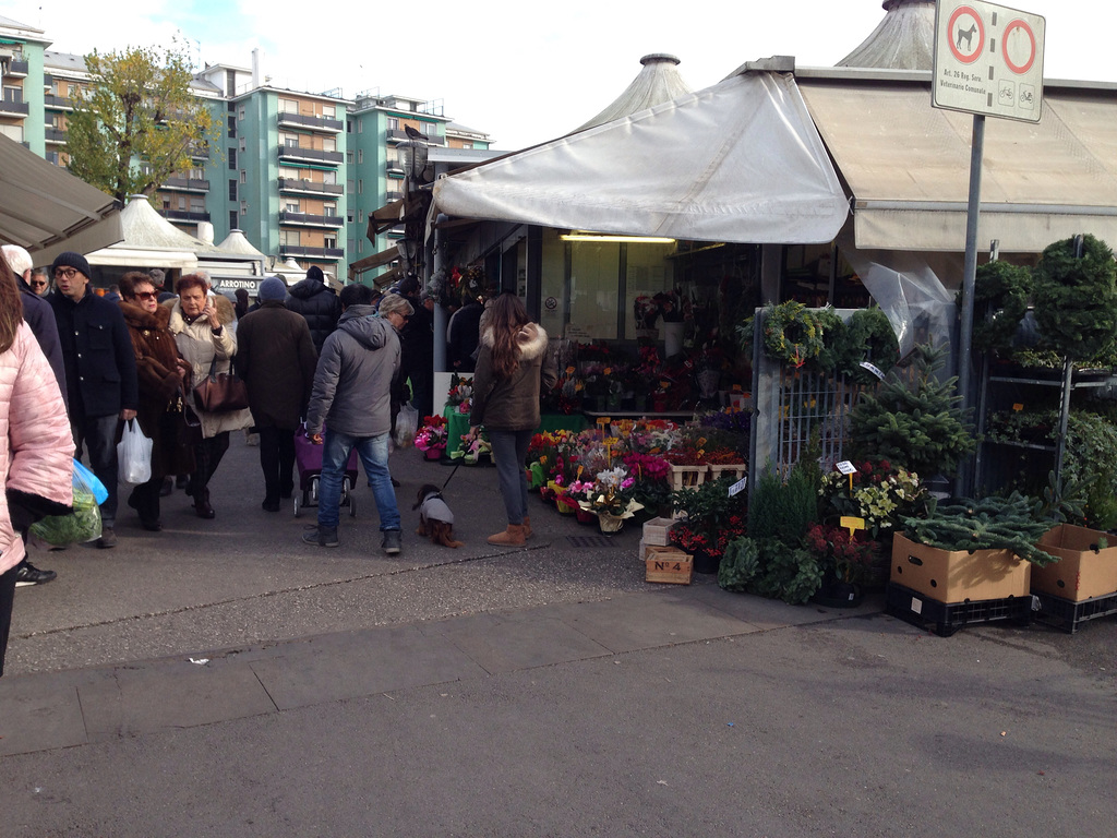
M108 497L101 505L98 547L116 545L116 426L136 415L140 393L132 337L121 307L89 287L89 263L67 251L50 266L55 311L66 366L66 393L74 445L89 449L89 465Z

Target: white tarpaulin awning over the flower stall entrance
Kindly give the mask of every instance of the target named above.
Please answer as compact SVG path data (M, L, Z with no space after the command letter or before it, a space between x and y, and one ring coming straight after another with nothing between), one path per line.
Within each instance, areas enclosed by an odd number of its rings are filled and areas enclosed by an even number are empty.
M438 211L698 241L830 241L849 213L791 74L705 91L435 184Z

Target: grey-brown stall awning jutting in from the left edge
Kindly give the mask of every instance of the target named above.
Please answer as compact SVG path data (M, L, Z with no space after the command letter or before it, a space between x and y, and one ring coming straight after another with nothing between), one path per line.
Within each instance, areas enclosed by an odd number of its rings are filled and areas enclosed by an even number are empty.
M0 240L49 265L64 250L87 254L123 237L112 197L0 136Z

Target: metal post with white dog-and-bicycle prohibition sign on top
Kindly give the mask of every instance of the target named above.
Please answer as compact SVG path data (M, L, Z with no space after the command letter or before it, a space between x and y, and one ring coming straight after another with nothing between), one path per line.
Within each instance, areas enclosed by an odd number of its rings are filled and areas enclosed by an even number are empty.
M1003 6L980 0L939 0L935 7L932 106L974 115L958 337L958 393L963 410L968 410L972 402L970 355L985 116L1040 121L1044 35L1043 18ZM955 480L955 494L967 494L972 474L971 463L963 464Z

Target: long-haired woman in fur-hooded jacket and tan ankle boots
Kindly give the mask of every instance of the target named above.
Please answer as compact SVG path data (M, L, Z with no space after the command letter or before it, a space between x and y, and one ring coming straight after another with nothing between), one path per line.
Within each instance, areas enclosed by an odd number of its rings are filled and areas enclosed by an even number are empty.
M532 537L524 464L540 427L540 389L550 390L558 377L547 358L547 333L532 323L514 294L502 294L489 304L480 337L469 434L476 436L481 425L488 431L508 516L508 527L488 542L515 546Z

